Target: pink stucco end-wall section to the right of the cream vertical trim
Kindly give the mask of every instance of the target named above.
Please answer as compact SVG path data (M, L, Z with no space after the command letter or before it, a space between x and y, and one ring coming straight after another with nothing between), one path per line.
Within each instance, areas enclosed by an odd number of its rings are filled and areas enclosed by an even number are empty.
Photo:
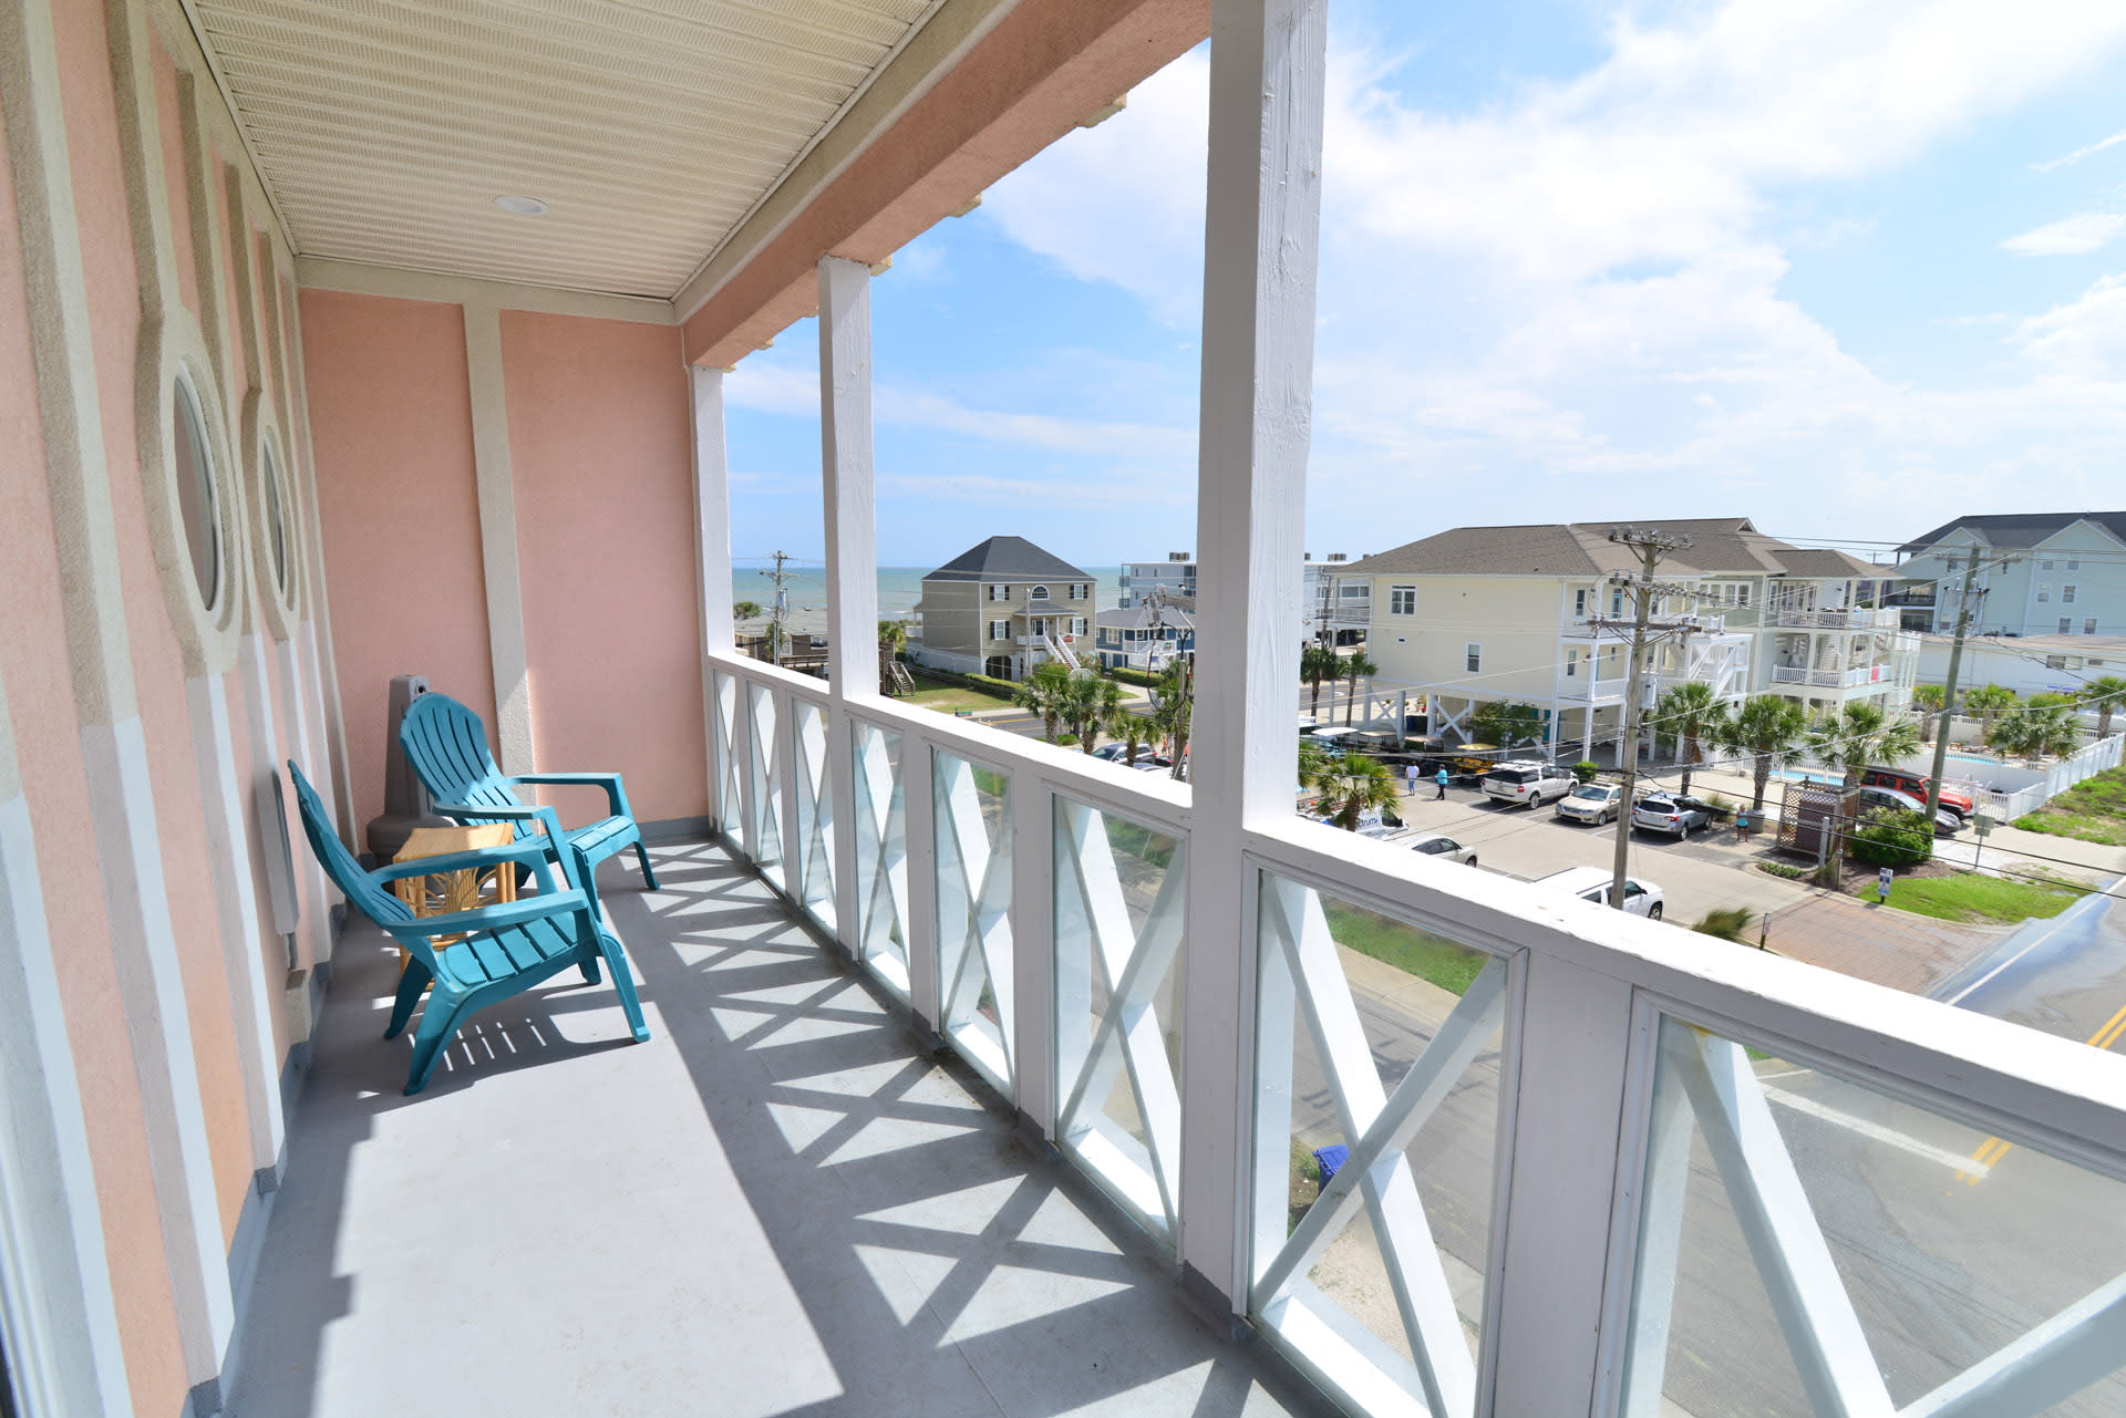
M693 463L678 332L502 313L532 733L617 770L640 821L708 812ZM555 797L566 821L604 797Z

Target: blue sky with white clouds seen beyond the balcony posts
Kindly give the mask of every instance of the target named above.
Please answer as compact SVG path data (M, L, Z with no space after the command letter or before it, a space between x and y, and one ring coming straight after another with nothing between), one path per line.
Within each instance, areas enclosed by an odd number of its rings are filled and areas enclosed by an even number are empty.
M878 548L1193 546L1203 51L874 283ZM1331 9L1307 544L2126 502L2126 4ZM729 378L816 557L816 330Z

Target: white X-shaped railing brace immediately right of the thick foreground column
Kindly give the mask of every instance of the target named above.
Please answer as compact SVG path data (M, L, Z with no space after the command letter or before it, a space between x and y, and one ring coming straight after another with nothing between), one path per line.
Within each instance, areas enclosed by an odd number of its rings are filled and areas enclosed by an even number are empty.
M1463 1337L1407 1148L1499 1031L1505 1016L1505 961L1484 965L1390 1093L1382 1086L1367 1046L1365 1023L1337 957L1320 893L1265 874L1259 931L1259 1086L1269 1105L1256 1114L1259 1216L1250 1310L1276 1327L1295 1282L1314 1269L1363 1212L1380 1246L1427 1405L1448 1418L1471 1414L1475 1361ZM1356 1142L1305 1218L1278 1246L1288 1167L1295 1018L1310 1035L1337 1125Z

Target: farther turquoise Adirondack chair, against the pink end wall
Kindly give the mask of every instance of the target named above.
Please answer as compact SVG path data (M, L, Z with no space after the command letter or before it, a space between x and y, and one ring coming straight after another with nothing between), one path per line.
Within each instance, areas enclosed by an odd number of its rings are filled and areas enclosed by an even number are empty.
M400 721L400 746L412 772L421 774L436 812L459 823L512 823L517 840L536 835L534 823L555 842L568 842L583 857L583 889L597 897L597 863L623 846L636 848L642 884L657 891L651 855L642 850L642 829L627 810L627 789L619 774L517 774L506 778L487 753L480 716L451 695L421 695ZM529 808L517 795L525 782L591 784L606 789L608 816L561 831L553 808Z

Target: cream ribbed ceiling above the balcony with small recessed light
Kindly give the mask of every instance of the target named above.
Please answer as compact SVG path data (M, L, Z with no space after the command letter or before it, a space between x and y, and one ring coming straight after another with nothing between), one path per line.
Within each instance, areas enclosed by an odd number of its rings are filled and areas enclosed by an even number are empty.
M187 0L304 255L665 298L933 9Z

